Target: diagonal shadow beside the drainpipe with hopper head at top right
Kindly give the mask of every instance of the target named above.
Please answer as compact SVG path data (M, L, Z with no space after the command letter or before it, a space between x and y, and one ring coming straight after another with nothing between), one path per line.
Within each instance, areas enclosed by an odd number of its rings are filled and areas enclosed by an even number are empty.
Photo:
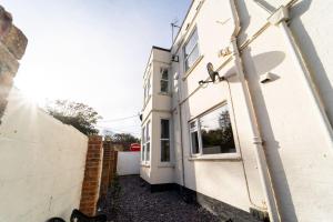
M317 54L315 46L313 44L313 41L309 36L301 20L302 14L304 14L306 11L310 10L311 4L312 4L312 0L303 0L291 9L290 28L291 31L293 32L295 41L301 47L302 56L306 61L310 71L313 74L312 77L315 83L320 84L317 89L319 89L319 93L321 94L321 98L323 99L323 102L325 104L332 104L332 100L330 100L330 98L333 98L333 89L332 89L331 81L329 79L329 73L324 69L324 65ZM323 21L323 22L327 22L327 21ZM333 124L333 107L327 107L327 105L324 107L329 120L331 124Z

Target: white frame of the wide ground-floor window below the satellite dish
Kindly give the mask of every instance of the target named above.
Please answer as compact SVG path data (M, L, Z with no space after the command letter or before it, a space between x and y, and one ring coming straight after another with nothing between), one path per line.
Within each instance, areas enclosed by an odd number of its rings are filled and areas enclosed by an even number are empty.
M231 121L231 127L232 127L232 134L233 134L233 140L234 140L234 145L235 145L235 152L233 153L214 153L214 154L203 154L202 151L202 137L201 137L201 125L200 125L200 119L210 113L213 112L216 109L220 109L224 105L228 105L226 102L223 102L219 105L215 105L209 110L206 110L205 112L203 112L202 114L198 115L195 119L189 121L189 139L190 139L190 155L194 159L240 159L240 149L239 149L239 141L238 141L238 135L236 135L236 131L234 130L234 122L232 120L232 113L231 110L229 110L229 114L230 114L230 121ZM191 123L192 122L196 122L196 129L191 129ZM199 142L199 153L193 153L193 144L192 144L192 138L191 138L191 133L192 132L198 132L198 142Z

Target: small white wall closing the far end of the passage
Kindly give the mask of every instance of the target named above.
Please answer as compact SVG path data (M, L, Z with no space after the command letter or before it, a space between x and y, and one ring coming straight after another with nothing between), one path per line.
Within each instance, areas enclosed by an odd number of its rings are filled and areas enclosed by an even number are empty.
M118 152L117 173L133 175L140 173L140 152Z

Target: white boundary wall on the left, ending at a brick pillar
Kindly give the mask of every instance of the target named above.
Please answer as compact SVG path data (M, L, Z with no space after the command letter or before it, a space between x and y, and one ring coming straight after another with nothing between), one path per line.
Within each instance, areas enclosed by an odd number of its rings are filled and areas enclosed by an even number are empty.
M0 221L69 221L79 208L88 138L16 90L0 124Z

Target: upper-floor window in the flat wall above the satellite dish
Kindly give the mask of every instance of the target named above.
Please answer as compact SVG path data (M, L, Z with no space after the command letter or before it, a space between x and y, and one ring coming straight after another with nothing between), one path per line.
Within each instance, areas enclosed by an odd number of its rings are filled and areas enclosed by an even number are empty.
M200 56L198 40L198 31L195 29L184 46L185 71L188 71L194 64Z

